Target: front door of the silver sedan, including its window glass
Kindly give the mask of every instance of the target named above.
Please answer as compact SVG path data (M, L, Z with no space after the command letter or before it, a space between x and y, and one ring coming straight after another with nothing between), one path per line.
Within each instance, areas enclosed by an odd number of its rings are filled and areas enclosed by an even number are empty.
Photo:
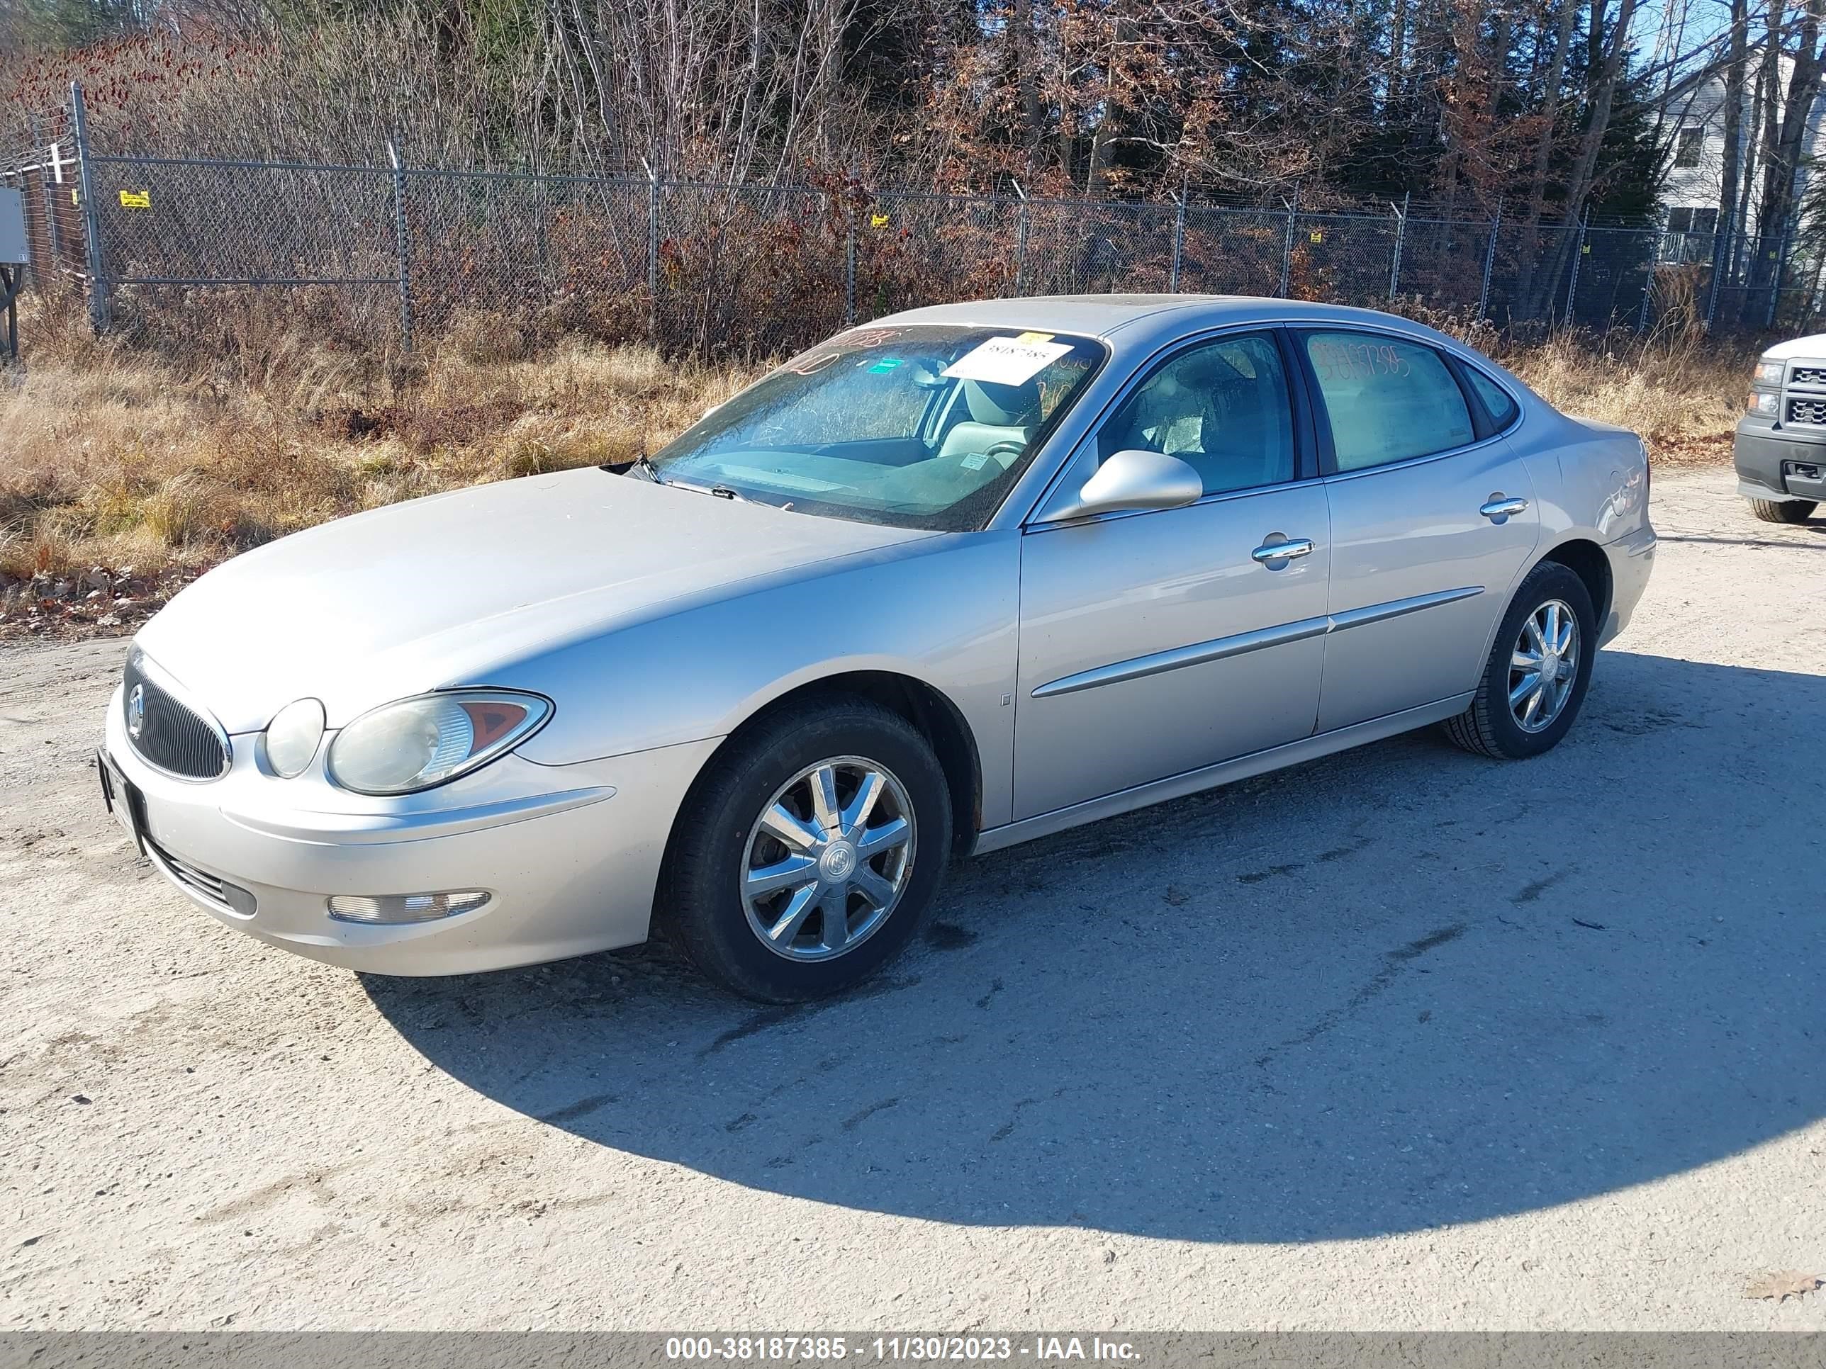
M1198 469L1205 496L1023 537L1017 820L1296 741L1318 710L1326 491L1296 478L1276 338L1178 352L1090 442L1072 489L1149 447Z

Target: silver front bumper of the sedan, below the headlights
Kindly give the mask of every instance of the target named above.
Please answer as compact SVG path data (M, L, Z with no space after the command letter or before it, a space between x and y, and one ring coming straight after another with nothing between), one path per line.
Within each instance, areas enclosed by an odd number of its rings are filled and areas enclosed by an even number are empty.
M250 741L234 739L221 779L173 779L128 743L115 694L106 754L142 798L148 860L236 931L378 975L464 975L646 940L672 818L716 747L561 767L506 756L409 801L323 812L310 807L318 789L261 774ZM219 893L225 882L248 898ZM451 889L491 898L435 922L329 916L332 894Z

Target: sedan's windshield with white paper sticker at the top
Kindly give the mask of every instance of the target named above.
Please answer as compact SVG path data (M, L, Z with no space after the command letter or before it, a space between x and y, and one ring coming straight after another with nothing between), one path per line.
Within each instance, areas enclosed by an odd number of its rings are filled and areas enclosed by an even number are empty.
M968 531L1103 356L1054 332L855 329L705 414L652 464L666 484L802 513Z

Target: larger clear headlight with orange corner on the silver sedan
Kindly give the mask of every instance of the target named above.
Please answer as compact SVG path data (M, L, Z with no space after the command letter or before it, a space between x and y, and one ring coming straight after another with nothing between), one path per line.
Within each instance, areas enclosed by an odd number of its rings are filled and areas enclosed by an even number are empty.
M411 794L488 765L551 717L551 701L506 690L400 699L362 714L331 743L329 772L358 794Z

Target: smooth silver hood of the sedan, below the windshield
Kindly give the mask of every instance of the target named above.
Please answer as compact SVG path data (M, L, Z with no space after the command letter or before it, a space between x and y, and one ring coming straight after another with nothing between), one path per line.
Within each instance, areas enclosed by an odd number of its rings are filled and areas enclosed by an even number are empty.
M318 697L331 726L681 601L933 533L787 513L599 469L340 518L179 593L139 646L230 732Z

